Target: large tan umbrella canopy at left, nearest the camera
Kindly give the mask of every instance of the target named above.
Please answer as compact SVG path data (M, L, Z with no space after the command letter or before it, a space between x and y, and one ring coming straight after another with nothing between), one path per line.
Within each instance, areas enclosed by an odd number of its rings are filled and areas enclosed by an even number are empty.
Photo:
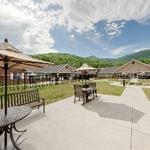
M4 62L8 62L8 69L29 69L32 67L44 67L49 62L33 59L5 40L0 44L0 68L4 67Z

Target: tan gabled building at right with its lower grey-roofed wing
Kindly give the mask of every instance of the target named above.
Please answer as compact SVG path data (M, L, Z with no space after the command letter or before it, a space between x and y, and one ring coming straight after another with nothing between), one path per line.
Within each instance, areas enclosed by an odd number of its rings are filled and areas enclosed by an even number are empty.
M99 78L150 78L150 65L132 59L121 67L103 67L97 71Z

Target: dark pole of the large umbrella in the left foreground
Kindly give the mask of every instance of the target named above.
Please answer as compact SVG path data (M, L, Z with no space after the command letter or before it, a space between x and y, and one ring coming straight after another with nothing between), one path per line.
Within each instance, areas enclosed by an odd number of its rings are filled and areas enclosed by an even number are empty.
M7 115L7 71L8 71L8 62L7 56L5 56L4 60L4 70L5 70L5 115ZM7 150L7 126L5 127L4 133L4 150Z

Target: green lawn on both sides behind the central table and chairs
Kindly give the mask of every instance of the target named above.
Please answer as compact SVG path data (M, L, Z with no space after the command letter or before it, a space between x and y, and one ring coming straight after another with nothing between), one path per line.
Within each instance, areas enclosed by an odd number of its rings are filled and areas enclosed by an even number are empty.
M97 83L97 92L99 94L120 96L124 90L124 87L110 85L109 82L106 82L106 81L96 81L96 83ZM72 82L72 83L64 83L64 84L47 85L47 86L38 87L39 92L40 92L40 97L45 98L47 103L53 103L55 101L73 96L74 84L76 83ZM12 92L12 91L9 91L9 92Z

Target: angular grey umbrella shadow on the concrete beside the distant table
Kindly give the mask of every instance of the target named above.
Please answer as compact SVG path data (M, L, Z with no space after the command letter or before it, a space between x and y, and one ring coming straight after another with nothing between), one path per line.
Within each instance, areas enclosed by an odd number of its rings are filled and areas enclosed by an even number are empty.
M118 119L123 121L132 121L133 111L133 122L137 123L145 113L129 107L126 104L112 103L100 101L100 98L91 101L83 106L85 109L96 112L100 117Z

